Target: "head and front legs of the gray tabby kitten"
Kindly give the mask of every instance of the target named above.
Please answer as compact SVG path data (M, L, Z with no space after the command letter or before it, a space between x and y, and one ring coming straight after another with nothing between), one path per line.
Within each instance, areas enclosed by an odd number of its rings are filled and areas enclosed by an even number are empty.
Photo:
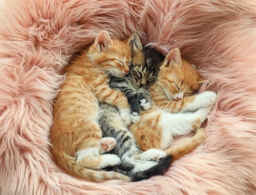
M149 110L152 101L147 89L155 83L161 63L164 62L164 55L155 49L143 47L142 52L143 60L133 60L128 76L111 77L109 83L110 88L123 92L128 98L133 121L139 119L141 109Z

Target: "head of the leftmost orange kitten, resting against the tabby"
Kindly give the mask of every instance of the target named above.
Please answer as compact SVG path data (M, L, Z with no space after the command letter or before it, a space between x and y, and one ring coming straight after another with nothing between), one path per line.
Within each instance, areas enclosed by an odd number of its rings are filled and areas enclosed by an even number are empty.
M136 37L126 40L112 39L107 31L101 31L89 48L93 62L114 77L125 77L131 65L131 43Z

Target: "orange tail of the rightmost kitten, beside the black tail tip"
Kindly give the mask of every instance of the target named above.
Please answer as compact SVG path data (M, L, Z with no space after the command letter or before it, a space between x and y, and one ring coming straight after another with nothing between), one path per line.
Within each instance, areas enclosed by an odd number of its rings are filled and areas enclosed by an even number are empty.
M197 129L194 136L186 139L179 145L176 145L170 149L165 150L164 152L167 155L171 155L173 157L172 163L175 160L178 160L180 157L183 157L185 154L189 154L194 148L197 148L203 140L206 138L206 132L203 128Z

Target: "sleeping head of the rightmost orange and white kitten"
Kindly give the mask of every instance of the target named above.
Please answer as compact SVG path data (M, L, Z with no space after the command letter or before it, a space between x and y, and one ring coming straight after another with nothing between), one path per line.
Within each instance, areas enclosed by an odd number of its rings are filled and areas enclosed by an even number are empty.
M164 59L157 79L167 98L174 101L194 95L204 81L194 65L181 58L177 48L171 50Z

